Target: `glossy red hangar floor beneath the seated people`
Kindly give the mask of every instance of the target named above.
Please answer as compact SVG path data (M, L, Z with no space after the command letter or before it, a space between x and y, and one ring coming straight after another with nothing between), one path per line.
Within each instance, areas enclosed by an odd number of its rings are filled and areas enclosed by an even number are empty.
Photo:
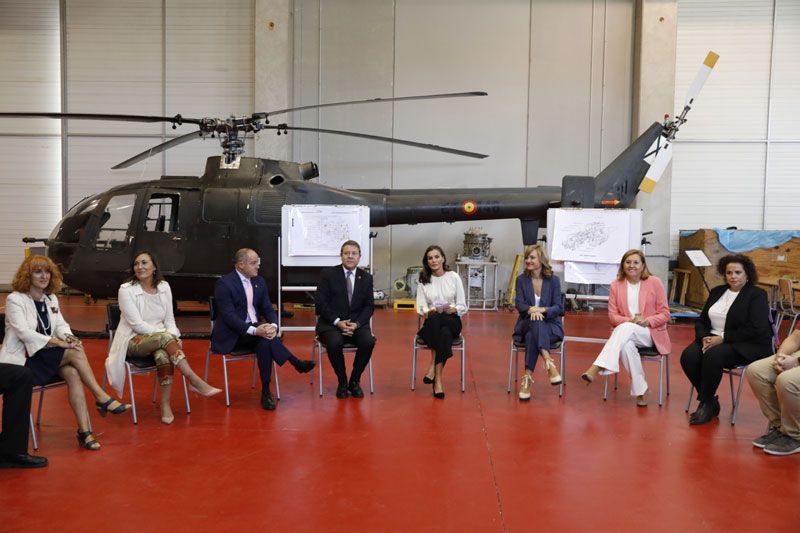
M73 297L62 307L74 329L102 328L101 306ZM597 345L569 347L564 398L541 368L532 401L506 394L514 318L467 316L466 392L459 392L453 359L444 401L421 381L409 390L416 318L391 310L376 313L375 394L363 400L334 397L325 361L325 396L287 366L277 411L263 411L259 390L250 388L250 365L233 363L230 408L222 395L193 395L187 416L175 394L176 421L164 426L149 401L152 381L134 378L139 424L95 413L103 447L89 452L76 445L65 391L49 392L38 453L50 466L0 471L0 531L800 529L800 455L771 457L750 445L765 420L747 385L735 426L723 381L719 421L689 427L678 359L690 325L670 328L672 390L662 408L655 401L657 365L645 365L652 392L642 409L628 395L627 377L607 402L602 382L579 381ZM196 331L207 320L179 325ZM602 336L605 313L570 315L567 332ZM308 357L310 334L287 335L290 348ZM102 376L105 342L85 344ZM207 343L185 346L201 373ZM219 360L209 381L222 386Z

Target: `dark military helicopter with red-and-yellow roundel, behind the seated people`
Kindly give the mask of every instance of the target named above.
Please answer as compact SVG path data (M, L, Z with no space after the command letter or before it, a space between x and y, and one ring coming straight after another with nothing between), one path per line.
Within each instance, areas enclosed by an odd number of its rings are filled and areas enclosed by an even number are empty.
M671 144L695 96L718 56L709 52L690 88L681 114L654 122L600 174L564 176L562 187L500 189L340 189L312 181L316 164L244 157L248 134L262 130L312 131L403 144L460 157L482 159L485 154L433 144L356 132L271 124L270 117L312 108L432 98L485 96L482 91L374 98L325 103L254 113L245 117L186 118L86 113L0 113L0 118L54 118L166 122L176 129L196 130L175 137L114 166L126 168L150 156L194 139L217 136L221 156L209 157L200 177L163 176L132 183L84 198L64 215L46 239L47 255L62 270L65 282L95 298L114 297L138 250L158 255L161 272L180 300L205 300L216 280L231 269L234 252L253 248L274 257L284 204L365 205L370 226L426 222L519 219L524 244L537 241L551 207L610 207L631 205L639 190L650 192L672 156ZM277 296L277 261L265 261L261 274ZM291 268L282 273L289 285L316 283L318 269ZM276 298L275 298L276 299Z

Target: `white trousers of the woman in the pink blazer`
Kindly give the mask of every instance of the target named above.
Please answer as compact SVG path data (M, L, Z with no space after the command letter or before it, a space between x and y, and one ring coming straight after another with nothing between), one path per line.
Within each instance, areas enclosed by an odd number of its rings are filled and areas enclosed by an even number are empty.
M647 380L638 347L651 346L653 338L648 328L624 322L614 328L594 364L603 369L600 372L603 375L616 374L619 372L619 360L622 359L625 370L631 374L631 396L639 396L647 392Z

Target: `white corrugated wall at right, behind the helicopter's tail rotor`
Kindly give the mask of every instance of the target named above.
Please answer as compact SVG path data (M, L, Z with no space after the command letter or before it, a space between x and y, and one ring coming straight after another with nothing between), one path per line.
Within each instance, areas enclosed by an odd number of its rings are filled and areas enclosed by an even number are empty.
M800 228L800 2L679 0L676 110L708 50L675 144L673 253L681 229Z

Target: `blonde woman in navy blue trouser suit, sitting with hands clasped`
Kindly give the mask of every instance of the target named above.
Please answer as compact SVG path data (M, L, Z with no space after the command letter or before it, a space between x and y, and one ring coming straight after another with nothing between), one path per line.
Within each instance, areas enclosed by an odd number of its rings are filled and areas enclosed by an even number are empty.
M553 275L550 260L539 244L525 247L525 271L517 277L514 306L519 318L514 325L514 340L525 343L525 375L520 380L519 399L531 399L533 369L542 355L550 383L561 383L550 348L564 338L561 315L561 282Z

